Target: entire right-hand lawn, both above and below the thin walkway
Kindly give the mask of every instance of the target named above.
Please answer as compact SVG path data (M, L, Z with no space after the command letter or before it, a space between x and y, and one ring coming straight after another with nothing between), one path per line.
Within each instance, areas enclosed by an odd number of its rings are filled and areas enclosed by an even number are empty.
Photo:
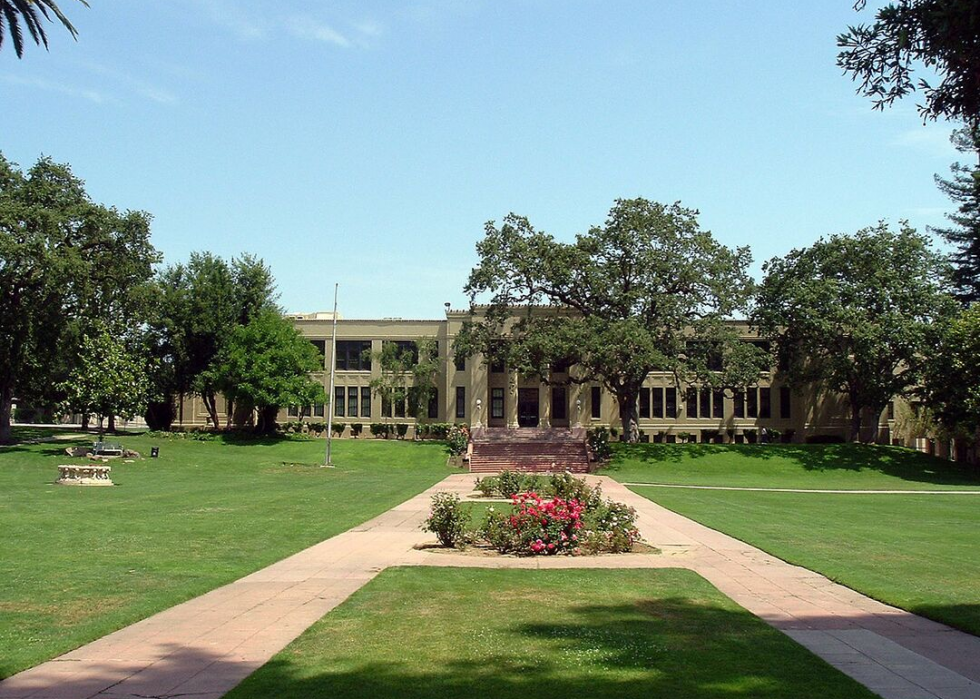
M980 490L976 472L855 445L616 445L629 483ZM651 500L859 592L980 635L980 496L634 486Z

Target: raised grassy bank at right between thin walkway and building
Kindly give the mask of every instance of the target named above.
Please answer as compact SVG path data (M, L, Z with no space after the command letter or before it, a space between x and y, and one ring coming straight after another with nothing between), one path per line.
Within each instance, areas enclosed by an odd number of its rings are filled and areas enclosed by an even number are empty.
M615 444L600 473L627 483L845 490L980 489L980 473L901 447Z

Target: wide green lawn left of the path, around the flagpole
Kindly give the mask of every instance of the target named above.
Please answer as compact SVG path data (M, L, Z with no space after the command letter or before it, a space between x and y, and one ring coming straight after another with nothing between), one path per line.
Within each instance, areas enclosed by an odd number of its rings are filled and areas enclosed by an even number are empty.
M113 438L116 441L115 438ZM89 440L91 441L91 440ZM378 515L452 472L440 444L121 437L113 488L53 485L69 443L0 448L0 677ZM286 462L287 465L284 465Z

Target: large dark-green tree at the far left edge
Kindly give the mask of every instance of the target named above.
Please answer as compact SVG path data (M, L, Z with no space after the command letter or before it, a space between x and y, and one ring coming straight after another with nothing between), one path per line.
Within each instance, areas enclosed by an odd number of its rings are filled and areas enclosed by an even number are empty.
M14 393L54 404L94 324L137 326L158 256L150 217L93 203L67 165L0 155L0 442Z

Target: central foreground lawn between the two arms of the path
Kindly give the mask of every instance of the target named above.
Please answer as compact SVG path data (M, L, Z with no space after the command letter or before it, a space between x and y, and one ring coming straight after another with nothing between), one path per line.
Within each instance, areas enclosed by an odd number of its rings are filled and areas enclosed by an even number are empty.
M226 695L271 696L875 695L690 571L390 568Z

